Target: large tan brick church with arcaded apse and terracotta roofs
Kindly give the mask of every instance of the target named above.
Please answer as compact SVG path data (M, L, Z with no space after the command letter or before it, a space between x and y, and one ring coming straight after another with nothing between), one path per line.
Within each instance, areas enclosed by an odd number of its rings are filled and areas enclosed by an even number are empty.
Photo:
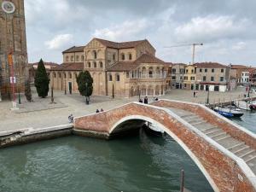
M168 65L155 57L147 39L116 43L93 38L87 45L62 52L63 63L50 73L50 85L79 92L76 77L90 72L95 96L160 96L167 89Z

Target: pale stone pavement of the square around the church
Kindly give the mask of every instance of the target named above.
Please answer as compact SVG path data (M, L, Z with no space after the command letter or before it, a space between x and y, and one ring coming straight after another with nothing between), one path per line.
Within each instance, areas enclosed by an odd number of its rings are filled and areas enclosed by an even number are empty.
M245 94L244 89L226 93L210 92L209 98L210 102L218 102L218 100L223 102L241 97L243 94ZM198 91L198 96L194 98L192 90L170 90L166 96L160 96L159 98L204 103L207 100L207 92ZM0 102L0 131L29 127L37 129L48 126L65 125L68 123L67 116L71 113L73 113L74 117L78 117L89 113L95 113L97 108L108 110L128 102L137 102L138 97L130 99L112 99L109 96L91 96L90 105L85 105L83 97L79 96L79 94L64 95L63 91L55 91L56 108L50 106L50 108L53 109L48 110L45 109L49 108L50 97L39 99L37 95L33 94L33 100L35 101L34 103L26 103L25 97L23 96L21 98L24 108L26 108L27 111L30 111L30 113L12 112L10 110L12 107L11 102ZM153 98L148 98L148 102L152 101ZM21 111L22 110L23 109L21 109ZM23 110L22 112L26 112L26 110Z

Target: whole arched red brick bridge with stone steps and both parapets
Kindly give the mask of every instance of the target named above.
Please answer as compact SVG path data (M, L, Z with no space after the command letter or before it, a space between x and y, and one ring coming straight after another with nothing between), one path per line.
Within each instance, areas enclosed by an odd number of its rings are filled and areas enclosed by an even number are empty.
M131 102L74 119L74 132L111 137L153 123L166 131L207 177L214 191L256 191L256 136L196 103Z

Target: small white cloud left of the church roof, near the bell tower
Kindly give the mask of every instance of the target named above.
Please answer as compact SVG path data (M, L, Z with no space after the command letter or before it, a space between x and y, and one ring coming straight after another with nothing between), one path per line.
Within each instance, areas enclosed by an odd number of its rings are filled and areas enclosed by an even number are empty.
M48 49L63 49L69 44L73 44L73 35L71 34L56 35L53 39L45 42Z

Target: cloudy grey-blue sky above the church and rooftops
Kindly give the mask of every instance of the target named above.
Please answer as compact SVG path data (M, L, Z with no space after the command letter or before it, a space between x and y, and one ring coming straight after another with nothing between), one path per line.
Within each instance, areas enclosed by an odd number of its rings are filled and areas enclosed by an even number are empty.
M61 51L91 38L147 38L164 61L256 66L255 0L25 0L29 61L61 63Z

